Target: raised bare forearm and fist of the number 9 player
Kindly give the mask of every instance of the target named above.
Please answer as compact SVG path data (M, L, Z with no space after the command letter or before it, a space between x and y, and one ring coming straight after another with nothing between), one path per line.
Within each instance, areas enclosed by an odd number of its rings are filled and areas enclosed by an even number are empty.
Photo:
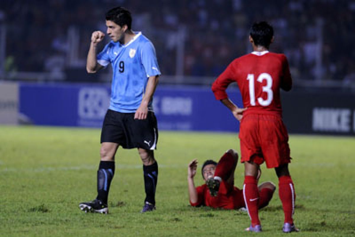
M97 44L102 41L104 36L105 34L101 31L95 31L92 33L90 48L86 59L86 71L88 73L95 73L103 68L102 65L97 63L96 50Z

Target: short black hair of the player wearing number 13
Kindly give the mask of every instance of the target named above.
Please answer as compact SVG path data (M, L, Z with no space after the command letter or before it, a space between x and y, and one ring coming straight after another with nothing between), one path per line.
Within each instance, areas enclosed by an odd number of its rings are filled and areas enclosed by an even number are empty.
M266 21L255 22L250 28L250 36L255 45L269 48L274 36L274 29Z

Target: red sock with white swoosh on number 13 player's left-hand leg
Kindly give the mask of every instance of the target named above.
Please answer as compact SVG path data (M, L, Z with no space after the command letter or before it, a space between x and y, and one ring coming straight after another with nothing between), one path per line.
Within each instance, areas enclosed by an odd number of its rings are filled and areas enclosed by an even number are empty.
M254 176L245 176L243 195L245 206L251 219L251 225L260 225L258 206L259 206L259 190L258 180Z

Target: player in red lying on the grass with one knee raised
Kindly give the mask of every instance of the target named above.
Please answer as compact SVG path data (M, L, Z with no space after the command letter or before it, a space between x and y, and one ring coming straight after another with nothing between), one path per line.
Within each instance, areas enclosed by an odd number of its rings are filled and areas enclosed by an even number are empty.
M195 187L193 178L197 170L197 160L191 161L188 168L187 181L191 206L210 206L212 208L240 209L245 208L243 191L234 186L234 171L237 166L238 154L230 149L224 153L219 162L207 160L202 166L202 177L205 184ZM258 178L261 171L259 170ZM218 192L210 193L207 182L209 178L221 177ZM275 185L264 182L258 187L260 200L259 209L267 206L271 200Z

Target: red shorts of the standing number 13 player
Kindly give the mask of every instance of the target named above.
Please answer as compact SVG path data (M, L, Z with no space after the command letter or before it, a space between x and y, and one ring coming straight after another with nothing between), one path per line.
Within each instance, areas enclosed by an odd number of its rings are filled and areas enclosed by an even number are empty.
M279 115L247 114L239 131L241 162L253 161L268 168L290 163L288 133Z

